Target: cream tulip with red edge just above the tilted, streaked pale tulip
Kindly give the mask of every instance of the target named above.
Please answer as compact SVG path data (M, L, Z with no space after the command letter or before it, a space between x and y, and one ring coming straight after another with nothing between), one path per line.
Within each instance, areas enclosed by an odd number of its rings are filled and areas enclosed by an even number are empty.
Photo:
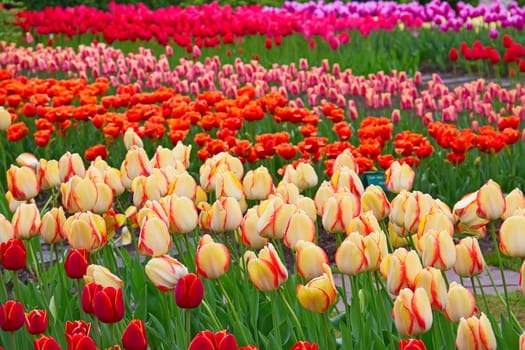
M156 215L144 218L140 225L139 253L149 256L161 256L167 254L171 248L171 236L168 226Z

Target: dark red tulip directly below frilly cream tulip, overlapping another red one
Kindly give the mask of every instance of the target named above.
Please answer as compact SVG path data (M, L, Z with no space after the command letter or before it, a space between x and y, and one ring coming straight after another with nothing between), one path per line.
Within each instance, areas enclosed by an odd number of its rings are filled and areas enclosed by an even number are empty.
M122 289L104 287L93 298L95 316L104 323L114 323L124 317Z

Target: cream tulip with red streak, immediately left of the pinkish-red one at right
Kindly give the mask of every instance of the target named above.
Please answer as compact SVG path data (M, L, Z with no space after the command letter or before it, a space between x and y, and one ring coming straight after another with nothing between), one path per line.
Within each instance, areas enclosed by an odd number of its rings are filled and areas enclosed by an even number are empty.
M422 260L424 266L448 270L456 262L454 241L446 231L429 231L421 237Z

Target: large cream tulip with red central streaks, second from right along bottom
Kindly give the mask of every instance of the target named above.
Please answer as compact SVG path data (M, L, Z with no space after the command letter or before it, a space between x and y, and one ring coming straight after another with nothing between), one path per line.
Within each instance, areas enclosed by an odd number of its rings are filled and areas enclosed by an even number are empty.
M414 292L404 288L394 301L392 317L397 330L411 337L425 333L432 326L432 309L427 293L423 288Z

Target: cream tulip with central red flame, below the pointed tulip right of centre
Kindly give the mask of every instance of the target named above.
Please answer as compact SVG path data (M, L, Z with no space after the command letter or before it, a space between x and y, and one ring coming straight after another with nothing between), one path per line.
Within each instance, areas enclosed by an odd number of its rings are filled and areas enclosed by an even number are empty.
M361 202L356 195L346 191L337 192L323 205L323 227L330 233L346 232L350 221L359 215L360 211Z

